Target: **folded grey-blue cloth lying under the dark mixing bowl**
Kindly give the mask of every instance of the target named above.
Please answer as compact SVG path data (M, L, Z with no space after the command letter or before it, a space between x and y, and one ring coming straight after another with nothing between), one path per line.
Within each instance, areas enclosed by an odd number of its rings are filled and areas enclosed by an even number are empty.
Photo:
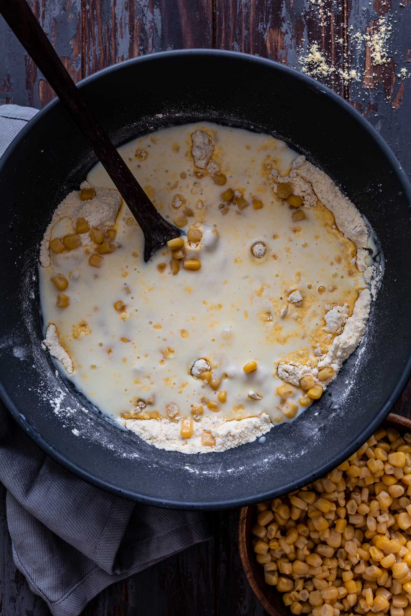
M0 153L36 110L0 106ZM14 562L55 616L76 616L103 588L211 537L206 515L136 505L68 472L0 403L0 481Z

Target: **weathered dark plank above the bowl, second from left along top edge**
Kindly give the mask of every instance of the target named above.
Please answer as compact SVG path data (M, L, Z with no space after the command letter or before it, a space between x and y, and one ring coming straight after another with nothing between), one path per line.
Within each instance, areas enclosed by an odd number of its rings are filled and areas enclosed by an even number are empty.
M212 46L212 0L90 0L84 19L84 70L166 49Z

